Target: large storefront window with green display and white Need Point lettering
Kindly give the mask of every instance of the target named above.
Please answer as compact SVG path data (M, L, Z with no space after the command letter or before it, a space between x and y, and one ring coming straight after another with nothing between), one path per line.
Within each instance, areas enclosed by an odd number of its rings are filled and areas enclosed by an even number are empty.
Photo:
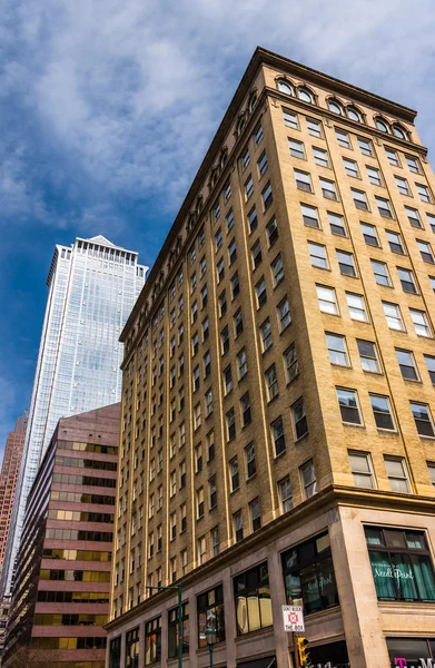
M423 531L390 527L365 527L364 531L379 600L435 600L432 558Z

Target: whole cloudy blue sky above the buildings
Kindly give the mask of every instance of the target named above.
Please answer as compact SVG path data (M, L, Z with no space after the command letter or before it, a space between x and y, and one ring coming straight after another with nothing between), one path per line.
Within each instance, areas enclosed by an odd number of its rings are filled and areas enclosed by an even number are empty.
M0 448L30 399L56 243L151 265L257 45L418 109L433 0L0 0Z

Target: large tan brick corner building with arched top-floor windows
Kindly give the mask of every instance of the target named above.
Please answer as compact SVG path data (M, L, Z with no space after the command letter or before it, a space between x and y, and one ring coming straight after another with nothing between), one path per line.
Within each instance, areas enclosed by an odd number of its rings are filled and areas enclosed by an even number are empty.
M186 666L294 665L286 603L315 665L435 657L415 115L255 52L122 333L110 668L176 666L171 583Z

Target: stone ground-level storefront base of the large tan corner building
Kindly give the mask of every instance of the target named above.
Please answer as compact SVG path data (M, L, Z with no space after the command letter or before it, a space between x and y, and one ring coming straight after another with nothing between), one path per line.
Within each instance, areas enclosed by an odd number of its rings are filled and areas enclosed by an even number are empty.
M164 590L111 620L106 668L176 668L180 638L185 667L296 668L298 637L316 668L435 667L433 510L330 491L171 583L182 606Z

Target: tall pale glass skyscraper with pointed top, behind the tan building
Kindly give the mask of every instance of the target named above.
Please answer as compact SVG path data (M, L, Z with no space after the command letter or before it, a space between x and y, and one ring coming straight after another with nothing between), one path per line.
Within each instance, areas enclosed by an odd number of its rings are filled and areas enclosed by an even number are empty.
M102 236L56 246L0 595L10 596L27 499L58 420L121 399L119 335L144 286L138 254Z

